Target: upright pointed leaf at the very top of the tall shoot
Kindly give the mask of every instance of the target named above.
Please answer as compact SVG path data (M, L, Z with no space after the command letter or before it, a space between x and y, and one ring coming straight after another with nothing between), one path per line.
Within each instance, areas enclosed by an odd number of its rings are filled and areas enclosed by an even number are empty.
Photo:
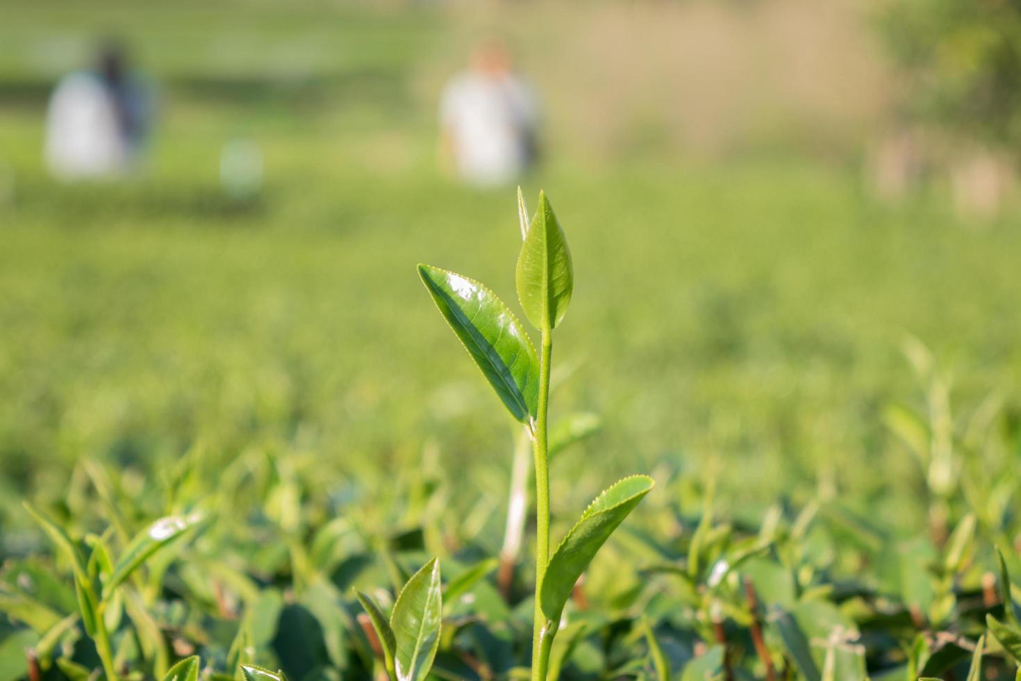
M518 256L515 279L528 321L540 330L555 329L571 302L574 267L567 237L544 192L539 192L539 209Z

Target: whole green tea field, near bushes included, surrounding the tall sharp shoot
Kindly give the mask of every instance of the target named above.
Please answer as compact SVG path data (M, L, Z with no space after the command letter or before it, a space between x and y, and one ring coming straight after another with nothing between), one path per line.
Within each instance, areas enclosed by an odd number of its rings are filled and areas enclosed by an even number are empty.
M434 677L527 678L534 523L508 581L496 560L520 428L416 273L463 273L518 309L514 188L437 167L442 11L124 5L113 23L160 84L148 167L64 186L41 161L53 55L108 21L15 4L0 681L109 676L76 550L125 679L191 654L209 678L385 675L354 590L387 612L432 556ZM264 154L251 200L218 184L235 138ZM549 678L1014 678L1021 210L963 225L938 183L882 203L861 165L596 160L551 139L524 179L574 260L553 546L613 481L655 481L575 590ZM168 516L180 532L133 562Z

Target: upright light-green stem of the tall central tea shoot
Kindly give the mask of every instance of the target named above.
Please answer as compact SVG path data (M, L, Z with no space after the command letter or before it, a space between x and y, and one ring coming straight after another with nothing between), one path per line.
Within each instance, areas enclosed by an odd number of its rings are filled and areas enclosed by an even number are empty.
M556 623L549 623L540 605L539 588L549 563L549 461L546 448L546 416L549 410L549 364L553 339L549 329L542 330L542 357L539 363L539 409L535 420L535 623L532 633L532 681L546 681L549 650Z

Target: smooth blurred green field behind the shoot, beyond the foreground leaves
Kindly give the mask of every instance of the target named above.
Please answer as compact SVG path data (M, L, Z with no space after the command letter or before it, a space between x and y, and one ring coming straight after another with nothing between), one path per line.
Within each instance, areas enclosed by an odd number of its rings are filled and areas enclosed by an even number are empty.
M83 453L144 469L199 440L311 449L345 471L431 441L466 476L503 460L495 400L414 272L465 271L513 299L513 189L438 173L435 93L414 87L439 58L438 11L126 6L161 120L146 175L99 187L54 184L40 158L54 76L40 45L87 47L92 12L22 11L0 40L8 503L59 494ZM214 40L231 20L236 50ZM303 72L275 82L259 56L287 45ZM251 205L216 181L238 134L265 153ZM921 396L905 338L953 374L962 419L993 391L1016 408L1016 213L969 230L936 192L879 204L853 158L581 165L569 151L551 145L524 185L553 197L576 253L557 354L579 369L560 403L602 415L578 454L600 478L664 461L742 498L823 484L910 528L888 482L910 500L918 472L881 422Z

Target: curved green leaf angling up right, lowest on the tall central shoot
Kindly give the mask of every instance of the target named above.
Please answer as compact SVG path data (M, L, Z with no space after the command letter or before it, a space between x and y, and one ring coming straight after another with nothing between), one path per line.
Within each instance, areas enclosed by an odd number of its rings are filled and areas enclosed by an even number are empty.
M614 530L652 489L648 476L631 476L595 497L556 547L539 589L542 614L558 622L575 583Z

